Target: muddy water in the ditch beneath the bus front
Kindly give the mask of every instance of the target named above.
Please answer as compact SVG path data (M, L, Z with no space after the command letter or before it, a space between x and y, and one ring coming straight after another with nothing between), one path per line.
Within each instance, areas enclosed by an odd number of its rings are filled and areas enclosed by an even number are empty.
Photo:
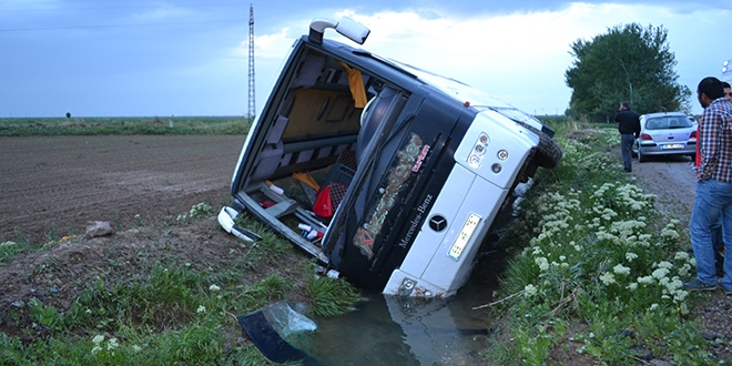
M373 295L356 311L318 319L306 352L329 365L479 365L495 319L485 309L498 287L497 255L476 265L448 299Z

